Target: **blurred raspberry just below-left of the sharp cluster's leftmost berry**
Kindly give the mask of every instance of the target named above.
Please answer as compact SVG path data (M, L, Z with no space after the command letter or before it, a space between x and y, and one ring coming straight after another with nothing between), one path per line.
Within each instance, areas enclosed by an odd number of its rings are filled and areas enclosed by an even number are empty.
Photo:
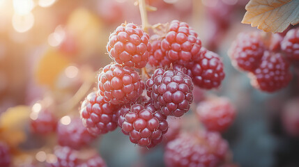
M69 124L62 118L57 125L57 138L59 145L79 149L91 143L95 136L89 134L80 118L72 118Z

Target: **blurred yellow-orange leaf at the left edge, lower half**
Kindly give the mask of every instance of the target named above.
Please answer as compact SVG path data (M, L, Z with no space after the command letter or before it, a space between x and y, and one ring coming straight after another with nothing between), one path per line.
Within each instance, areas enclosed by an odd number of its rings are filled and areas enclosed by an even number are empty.
M0 116L0 138L10 146L17 146L26 140L24 128L29 123L29 106L9 108Z

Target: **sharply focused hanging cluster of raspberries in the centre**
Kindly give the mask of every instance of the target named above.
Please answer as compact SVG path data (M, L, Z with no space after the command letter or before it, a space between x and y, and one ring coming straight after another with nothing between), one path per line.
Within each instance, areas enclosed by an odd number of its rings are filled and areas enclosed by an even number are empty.
M225 76L220 56L201 47L187 23L163 25L149 36L135 24L121 24L109 36L107 51L114 62L100 70L98 90L79 112L91 134L120 127L132 143L152 148L167 132L167 117L190 110L194 85L220 86Z

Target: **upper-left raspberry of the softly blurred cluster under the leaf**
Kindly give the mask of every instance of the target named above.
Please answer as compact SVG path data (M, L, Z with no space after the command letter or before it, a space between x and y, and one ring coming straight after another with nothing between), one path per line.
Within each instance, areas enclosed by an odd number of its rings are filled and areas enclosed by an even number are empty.
M239 33L229 48L228 54L233 66L253 72L259 66L264 50L261 34L254 31L252 33Z

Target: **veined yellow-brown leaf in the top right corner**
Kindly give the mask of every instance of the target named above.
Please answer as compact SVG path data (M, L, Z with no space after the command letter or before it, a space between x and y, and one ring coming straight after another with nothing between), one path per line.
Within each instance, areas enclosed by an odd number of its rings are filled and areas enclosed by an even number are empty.
M281 33L299 23L299 0L250 0L242 23L266 32Z

